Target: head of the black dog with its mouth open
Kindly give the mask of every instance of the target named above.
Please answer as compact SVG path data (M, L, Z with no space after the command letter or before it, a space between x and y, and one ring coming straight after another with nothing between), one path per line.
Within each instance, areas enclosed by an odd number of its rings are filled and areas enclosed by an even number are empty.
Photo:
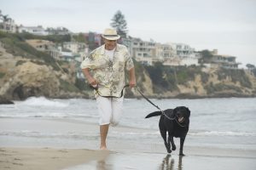
M174 116L177 117L177 122L183 123L189 121L190 111L185 106L178 106L173 110Z

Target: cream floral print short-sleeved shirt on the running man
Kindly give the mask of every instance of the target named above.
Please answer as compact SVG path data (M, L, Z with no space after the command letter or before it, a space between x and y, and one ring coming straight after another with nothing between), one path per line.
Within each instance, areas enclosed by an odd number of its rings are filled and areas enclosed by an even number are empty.
M92 51L82 62L81 69L90 69L99 83L98 93L102 96L120 97L125 86L125 68L134 67L131 55L124 45L117 44L113 60L105 55L105 44ZM97 93L95 92L96 97Z

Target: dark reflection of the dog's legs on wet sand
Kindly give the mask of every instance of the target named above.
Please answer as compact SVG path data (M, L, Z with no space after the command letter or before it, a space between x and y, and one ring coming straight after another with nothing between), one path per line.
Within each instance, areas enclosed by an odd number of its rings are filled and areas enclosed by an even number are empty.
M162 163L160 164L160 170L182 170L183 169L183 156L178 156L178 164L177 168L175 168L175 160L172 158L172 156L167 154L166 157L164 157Z

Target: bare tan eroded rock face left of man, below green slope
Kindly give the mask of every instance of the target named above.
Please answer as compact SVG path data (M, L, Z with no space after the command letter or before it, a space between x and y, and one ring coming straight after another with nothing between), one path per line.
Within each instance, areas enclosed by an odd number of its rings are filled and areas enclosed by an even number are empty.
M62 65L61 65L62 66ZM42 59L13 55L0 45L0 96L3 99L26 99L31 96L48 98L89 97L75 84L73 73L55 70ZM68 65L68 68L72 65Z

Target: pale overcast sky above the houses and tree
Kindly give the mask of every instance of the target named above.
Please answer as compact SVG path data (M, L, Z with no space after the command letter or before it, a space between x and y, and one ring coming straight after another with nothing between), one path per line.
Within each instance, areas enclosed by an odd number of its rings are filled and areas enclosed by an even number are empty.
M181 42L256 65L256 0L0 0L2 14L23 26L64 26L102 33L118 10L128 34Z

